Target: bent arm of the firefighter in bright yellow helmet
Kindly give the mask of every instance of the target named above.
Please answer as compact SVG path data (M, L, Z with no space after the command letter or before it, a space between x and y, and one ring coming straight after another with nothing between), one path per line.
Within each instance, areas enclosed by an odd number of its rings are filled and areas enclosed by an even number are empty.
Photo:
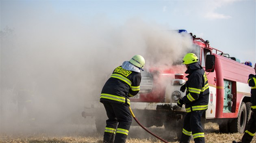
M195 76L190 77L191 82L188 87L188 94L183 97L184 103L191 103L199 98L201 89L202 89L202 76L195 74Z

